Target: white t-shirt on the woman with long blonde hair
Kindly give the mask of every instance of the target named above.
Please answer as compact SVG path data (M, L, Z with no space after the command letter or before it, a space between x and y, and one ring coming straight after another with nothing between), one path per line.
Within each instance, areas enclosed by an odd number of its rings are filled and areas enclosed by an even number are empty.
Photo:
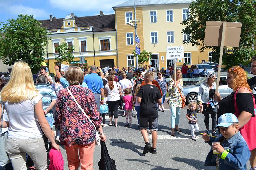
M35 105L42 97L38 94L20 103L3 102L9 118L8 138L34 139L43 136L35 113Z

